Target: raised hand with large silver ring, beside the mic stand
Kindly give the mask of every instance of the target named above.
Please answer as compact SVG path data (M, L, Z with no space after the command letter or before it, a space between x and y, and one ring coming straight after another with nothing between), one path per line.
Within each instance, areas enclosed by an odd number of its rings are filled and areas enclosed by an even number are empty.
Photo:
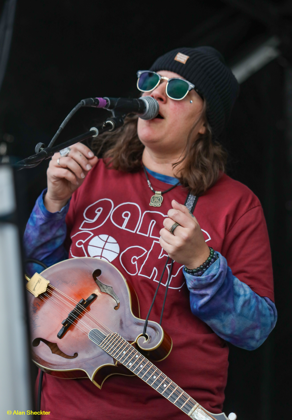
M61 157L60 153L55 153L47 168L47 193L44 204L51 213L60 211L66 205L98 160L85 144L76 143L70 146L70 149L67 156Z

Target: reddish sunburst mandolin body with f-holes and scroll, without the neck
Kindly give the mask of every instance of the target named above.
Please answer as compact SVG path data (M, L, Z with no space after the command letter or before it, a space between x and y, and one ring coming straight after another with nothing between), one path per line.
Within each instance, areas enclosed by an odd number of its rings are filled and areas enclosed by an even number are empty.
M145 320L139 318L137 295L109 262L72 258L47 268L41 276L50 281L46 293L27 294L32 358L44 372L58 378L89 378L99 388L110 375L133 375L89 339L92 328L117 332L153 362L170 353L171 338L158 323L148 321L147 340L142 336ZM95 299L58 338L62 321L92 294Z

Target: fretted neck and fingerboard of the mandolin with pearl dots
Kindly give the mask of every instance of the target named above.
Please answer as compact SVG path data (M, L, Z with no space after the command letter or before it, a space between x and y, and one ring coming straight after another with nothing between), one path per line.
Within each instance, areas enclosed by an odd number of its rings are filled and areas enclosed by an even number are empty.
M99 330L93 329L89 332L89 338L192 419L223 420L227 418L224 413L215 415L203 409L199 403L171 381L118 333L112 333L108 336L102 334L101 336Z

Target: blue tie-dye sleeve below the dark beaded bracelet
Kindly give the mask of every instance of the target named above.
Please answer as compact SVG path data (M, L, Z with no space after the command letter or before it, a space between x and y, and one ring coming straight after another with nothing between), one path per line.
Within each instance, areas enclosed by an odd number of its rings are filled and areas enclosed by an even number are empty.
M226 259L218 255L201 277L184 271L192 313L224 340L242 349L257 349L276 324L275 304L233 276Z

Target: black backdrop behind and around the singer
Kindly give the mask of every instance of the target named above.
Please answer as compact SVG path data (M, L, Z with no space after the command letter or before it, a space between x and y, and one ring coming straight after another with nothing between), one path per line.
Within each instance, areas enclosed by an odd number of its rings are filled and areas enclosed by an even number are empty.
M290 411L291 24L292 6L286 1L18 1L0 91L0 142L7 144L8 155L24 158L37 142L49 143L82 98L137 97L137 70L149 68L170 49L211 45L232 66L279 36L282 54L241 85L222 138L229 175L249 186L263 205L279 314L276 328L257 350L230 345L224 411L236 412L239 420L280 420ZM101 118L101 110L79 110L58 142ZM28 186L22 209L26 220L46 186L47 163L22 171Z

